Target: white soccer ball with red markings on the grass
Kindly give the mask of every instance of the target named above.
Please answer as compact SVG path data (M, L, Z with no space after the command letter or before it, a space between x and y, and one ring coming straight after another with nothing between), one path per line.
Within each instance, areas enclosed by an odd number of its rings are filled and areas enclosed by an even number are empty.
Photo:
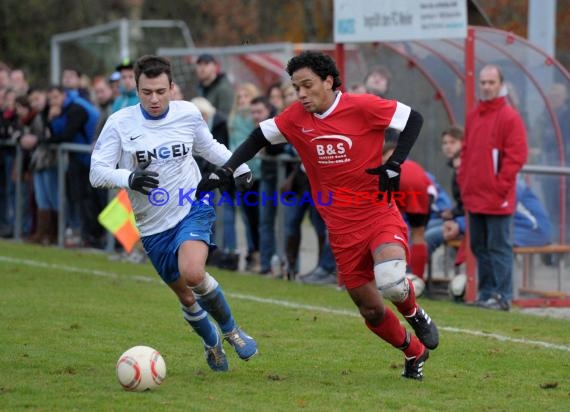
M117 361L117 378L123 389L142 392L157 387L166 377L160 353L149 346L134 346Z

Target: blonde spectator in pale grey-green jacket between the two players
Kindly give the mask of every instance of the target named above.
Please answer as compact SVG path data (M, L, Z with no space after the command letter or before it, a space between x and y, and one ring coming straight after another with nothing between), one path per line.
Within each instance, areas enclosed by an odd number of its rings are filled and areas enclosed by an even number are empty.
M241 83L236 87L232 110L230 112L230 150L234 151L254 129L255 123L251 118L251 101L259 96L259 89L253 83ZM250 191L258 193L259 179L261 177L261 159L254 158L247 162L253 173L253 183ZM236 207L224 203L224 236L228 236L231 246L232 238L237 246L235 213ZM245 227L247 255L245 257L245 270L259 272L259 205L251 202L242 202L240 206L242 222Z

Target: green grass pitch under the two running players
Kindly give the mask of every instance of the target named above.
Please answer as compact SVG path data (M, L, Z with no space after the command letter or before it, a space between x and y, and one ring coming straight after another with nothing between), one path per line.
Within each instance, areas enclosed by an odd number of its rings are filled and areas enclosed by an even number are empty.
M570 321L420 299L440 327L423 382L345 292L212 270L260 354L213 373L150 264L0 241L0 410L568 411ZM121 389L115 362L159 350L157 389Z

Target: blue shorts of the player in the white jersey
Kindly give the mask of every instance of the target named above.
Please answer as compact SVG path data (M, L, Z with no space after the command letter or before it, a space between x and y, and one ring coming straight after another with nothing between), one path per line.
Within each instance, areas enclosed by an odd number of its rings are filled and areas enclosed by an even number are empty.
M215 247L212 231L215 221L216 212L212 206L195 202L188 215L176 226L141 239L152 265L166 284L180 277L178 249L183 242L201 240L209 247Z

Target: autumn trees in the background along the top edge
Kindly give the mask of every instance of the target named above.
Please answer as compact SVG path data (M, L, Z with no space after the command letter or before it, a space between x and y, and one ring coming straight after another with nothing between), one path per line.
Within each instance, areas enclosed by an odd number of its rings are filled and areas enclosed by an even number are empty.
M494 27L526 37L528 0L476 3ZM2 0L0 60L25 69L32 83L45 83L52 35L121 17L183 20L198 47L333 40L333 0ZM557 28L557 57L570 69L569 0L557 3ZM90 71L109 69L97 64Z

